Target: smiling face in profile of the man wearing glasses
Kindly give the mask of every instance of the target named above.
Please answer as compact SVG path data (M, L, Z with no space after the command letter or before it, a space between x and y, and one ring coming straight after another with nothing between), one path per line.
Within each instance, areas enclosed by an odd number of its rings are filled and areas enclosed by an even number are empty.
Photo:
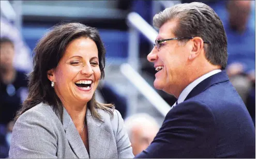
M159 28L157 39L176 38L173 30L176 28L176 21L168 21ZM154 62L154 67L161 67L155 74L154 86L167 93L174 94L174 89L183 83L185 79L186 65L189 56L189 45L182 44L178 40L170 40L161 43L158 50L155 46L148 54L147 59ZM175 96L176 97L176 96Z

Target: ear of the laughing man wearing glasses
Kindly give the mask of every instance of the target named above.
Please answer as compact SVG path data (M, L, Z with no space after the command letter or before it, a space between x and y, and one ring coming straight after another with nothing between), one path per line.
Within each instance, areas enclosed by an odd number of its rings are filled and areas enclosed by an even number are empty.
M192 42L192 50L188 57L189 60L193 60L195 57L199 56L204 47L204 41L200 37L194 37Z

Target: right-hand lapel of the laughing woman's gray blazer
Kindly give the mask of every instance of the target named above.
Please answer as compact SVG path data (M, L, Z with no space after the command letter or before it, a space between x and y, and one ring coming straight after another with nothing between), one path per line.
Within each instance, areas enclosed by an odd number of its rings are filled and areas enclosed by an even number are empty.
M89 154L91 158L108 158L108 149L110 147L110 133L103 127L103 124L98 119L93 118L91 110L86 112L88 139L89 139ZM104 119L103 119L104 120Z

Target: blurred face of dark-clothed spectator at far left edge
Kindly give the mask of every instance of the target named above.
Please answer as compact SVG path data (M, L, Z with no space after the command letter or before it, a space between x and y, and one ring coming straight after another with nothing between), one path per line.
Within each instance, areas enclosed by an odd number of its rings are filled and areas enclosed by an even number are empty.
M9 42L4 42L0 46L0 68L10 69L12 68L12 62L14 58L14 48Z

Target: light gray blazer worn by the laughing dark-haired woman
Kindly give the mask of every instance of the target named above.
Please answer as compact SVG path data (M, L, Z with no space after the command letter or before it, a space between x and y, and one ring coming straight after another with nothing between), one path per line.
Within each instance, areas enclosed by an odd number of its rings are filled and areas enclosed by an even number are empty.
M63 124L52 107L43 103L27 110L16 121L9 151L10 158L133 158L131 143L121 114L114 118L99 109L103 122L87 109L89 155L64 108Z

